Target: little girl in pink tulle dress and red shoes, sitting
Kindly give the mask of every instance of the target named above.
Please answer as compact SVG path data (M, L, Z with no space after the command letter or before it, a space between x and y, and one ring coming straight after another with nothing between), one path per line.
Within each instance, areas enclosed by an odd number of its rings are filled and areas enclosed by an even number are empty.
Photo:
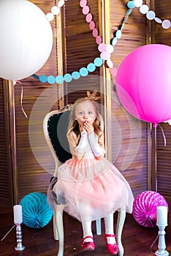
M104 217L104 241L110 254L118 254L113 231L113 213L125 207L132 213L133 195L126 179L104 158L104 132L100 128L98 104L77 99L70 113L67 132L72 159L58 167L53 187L58 204L83 226L83 250L94 250L91 222Z

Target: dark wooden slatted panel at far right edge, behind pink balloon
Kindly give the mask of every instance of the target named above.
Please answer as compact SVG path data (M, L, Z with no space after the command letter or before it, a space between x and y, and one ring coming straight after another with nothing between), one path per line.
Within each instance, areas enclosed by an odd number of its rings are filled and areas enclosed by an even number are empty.
M161 20L171 20L171 4L170 1L155 1L156 17ZM163 45L171 46L171 29L162 29L161 24L155 26L155 42ZM164 138L161 128L156 129L156 166L157 166L157 191L161 195L171 197L171 126L169 124L161 124L166 137L166 146L164 146Z

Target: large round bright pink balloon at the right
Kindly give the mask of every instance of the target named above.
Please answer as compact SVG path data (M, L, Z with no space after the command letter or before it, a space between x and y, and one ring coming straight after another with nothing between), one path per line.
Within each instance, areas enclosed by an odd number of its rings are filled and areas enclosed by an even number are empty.
M171 118L171 47L144 45L121 62L116 76L118 98L126 110L158 124Z

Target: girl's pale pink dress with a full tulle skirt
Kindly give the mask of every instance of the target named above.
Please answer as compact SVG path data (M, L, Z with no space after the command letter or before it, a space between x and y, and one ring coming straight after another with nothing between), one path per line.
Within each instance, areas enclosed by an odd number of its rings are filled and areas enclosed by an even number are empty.
M58 167L58 181L48 191L53 202L64 204L64 211L80 221L100 219L123 207L132 213L134 197L126 179L105 157L96 159L88 142L83 150L81 160L72 158Z

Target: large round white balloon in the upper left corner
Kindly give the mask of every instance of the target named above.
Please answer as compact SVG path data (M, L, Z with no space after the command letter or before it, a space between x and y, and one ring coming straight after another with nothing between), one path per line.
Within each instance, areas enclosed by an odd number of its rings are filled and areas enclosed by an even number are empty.
M45 13L27 0L1 0L0 23L0 78L20 80L41 69L53 46Z

